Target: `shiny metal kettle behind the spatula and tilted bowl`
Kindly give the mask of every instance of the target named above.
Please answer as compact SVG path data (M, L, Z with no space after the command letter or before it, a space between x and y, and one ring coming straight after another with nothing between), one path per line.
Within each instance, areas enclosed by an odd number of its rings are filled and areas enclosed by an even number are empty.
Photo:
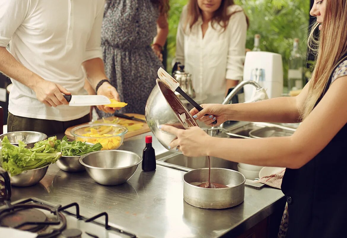
M181 89L188 94L191 98L195 97L195 91L192 83L192 75L184 71L184 65L177 64L177 69L172 73L172 77L174 77ZM179 99L183 99L179 93L175 92L176 96Z

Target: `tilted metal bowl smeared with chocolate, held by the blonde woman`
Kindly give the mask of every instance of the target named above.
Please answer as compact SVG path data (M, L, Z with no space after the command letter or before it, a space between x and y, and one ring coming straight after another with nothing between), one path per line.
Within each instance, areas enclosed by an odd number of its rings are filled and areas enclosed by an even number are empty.
M160 79L156 79L156 86L148 97L145 116L149 128L158 141L167 150L173 152L177 151L175 148L169 148L169 145L176 136L159 130L159 126L165 124L181 129L198 126L191 113L175 93L169 90Z

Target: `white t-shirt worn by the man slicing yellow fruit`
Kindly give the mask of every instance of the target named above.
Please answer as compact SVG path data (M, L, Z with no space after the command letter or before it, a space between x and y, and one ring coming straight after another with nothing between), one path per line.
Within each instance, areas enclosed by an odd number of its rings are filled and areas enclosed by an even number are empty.
M104 0L0 0L0 46L26 68L60 84L72 95L85 95L82 63L102 58L100 48ZM47 107L34 91L11 79L10 113L68 121L89 107Z

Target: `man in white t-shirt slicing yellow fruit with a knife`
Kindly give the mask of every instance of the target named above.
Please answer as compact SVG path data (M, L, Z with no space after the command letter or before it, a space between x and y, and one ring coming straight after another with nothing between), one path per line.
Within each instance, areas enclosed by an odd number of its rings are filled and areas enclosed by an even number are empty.
M119 100L100 48L104 0L0 0L0 6L0 71L13 84L8 131L53 135L89 121L89 107L69 107L63 97L87 94L86 78L91 91Z

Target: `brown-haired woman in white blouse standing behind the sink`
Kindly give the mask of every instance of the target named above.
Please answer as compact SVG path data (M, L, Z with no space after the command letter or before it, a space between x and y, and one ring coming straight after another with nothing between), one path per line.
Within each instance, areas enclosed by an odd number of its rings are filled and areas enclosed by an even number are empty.
M176 62L192 74L196 93L221 103L243 76L248 19L234 0L190 0L176 36Z

